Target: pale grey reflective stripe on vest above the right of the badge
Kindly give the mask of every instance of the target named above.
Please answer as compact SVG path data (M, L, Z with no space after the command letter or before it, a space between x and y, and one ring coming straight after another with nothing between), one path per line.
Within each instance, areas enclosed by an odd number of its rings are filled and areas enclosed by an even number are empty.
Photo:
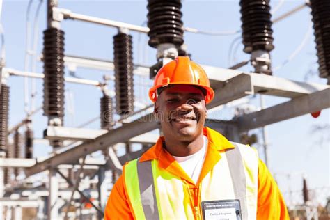
M233 142L232 142L233 143ZM226 151L229 171L233 180L235 198L239 199L241 204L242 219L248 219L246 206L246 176L239 146L236 143L234 149Z

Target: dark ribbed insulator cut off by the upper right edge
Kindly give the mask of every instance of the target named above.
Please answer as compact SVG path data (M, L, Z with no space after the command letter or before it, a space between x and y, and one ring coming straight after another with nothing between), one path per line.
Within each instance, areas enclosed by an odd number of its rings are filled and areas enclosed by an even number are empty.
M330 85L330 1L311 0L311 8L320 77Z

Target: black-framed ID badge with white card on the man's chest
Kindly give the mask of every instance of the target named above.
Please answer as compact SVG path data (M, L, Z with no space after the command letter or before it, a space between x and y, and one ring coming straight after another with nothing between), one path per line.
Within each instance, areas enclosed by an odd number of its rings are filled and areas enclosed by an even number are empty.
M241 220L241 205L239 199L203 201L203 219Z

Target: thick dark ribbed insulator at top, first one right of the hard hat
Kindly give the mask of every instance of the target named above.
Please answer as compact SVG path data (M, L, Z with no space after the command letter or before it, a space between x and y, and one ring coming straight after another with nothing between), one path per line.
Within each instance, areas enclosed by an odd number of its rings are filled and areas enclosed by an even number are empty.
M274 49L269 0L241 0L244 52Z

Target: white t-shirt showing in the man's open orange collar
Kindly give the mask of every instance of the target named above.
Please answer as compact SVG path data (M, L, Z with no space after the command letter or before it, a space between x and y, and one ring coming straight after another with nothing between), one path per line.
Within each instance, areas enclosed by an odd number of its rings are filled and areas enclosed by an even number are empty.
M203 147L201 148L201 150L198 150L198 152L194 153L194 155L189 155L186 157L173 156L173 158L180 164L183 170L189 175L191 180L194 180L195 183L197 182L199 175L201 174L206 155L207 137L203 137Z

